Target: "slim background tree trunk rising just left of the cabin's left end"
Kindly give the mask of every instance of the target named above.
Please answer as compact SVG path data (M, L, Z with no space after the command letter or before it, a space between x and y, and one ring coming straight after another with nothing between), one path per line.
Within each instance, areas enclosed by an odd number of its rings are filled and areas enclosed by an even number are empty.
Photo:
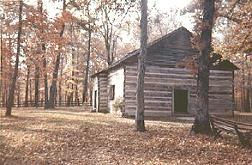
M90 54L91 54L91 29L89 25L88 31L88 53L87 53L87 61L86 61L86 70L85 70L85 79L84 79L84 86L83 86L83 97L82 103L87 101L87 88L88 88L88 71L89 71L89 61L90 61Z

